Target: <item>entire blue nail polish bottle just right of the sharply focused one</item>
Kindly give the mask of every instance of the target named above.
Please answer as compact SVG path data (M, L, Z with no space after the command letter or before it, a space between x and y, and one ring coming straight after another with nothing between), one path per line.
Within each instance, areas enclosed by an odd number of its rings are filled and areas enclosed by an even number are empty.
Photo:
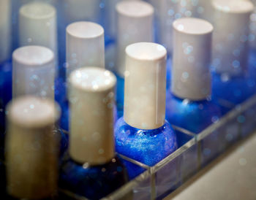
M166 118L195 134L221 116L211 97L211 23L181 18L173 23L173 72Z

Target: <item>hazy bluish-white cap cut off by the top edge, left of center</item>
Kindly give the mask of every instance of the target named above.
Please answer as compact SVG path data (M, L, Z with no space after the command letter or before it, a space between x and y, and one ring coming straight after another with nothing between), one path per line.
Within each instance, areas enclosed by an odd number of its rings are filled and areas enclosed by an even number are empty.
M89 20L97 22L100 15L100 0L64 0L64 18L67 23Z

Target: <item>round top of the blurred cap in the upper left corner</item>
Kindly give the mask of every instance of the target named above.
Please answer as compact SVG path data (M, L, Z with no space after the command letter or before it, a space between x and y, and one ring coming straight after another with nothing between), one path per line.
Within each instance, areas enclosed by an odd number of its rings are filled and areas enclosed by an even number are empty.
M56 15L56 9L50 4L32 2L20 8L20 15L33 19L52 18Z

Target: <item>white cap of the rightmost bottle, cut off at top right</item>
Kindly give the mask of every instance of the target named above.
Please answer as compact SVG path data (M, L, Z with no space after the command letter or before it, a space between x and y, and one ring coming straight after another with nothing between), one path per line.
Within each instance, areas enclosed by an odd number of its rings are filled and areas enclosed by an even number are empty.
M213 65L230 76L246 70L251 1L214 0Z

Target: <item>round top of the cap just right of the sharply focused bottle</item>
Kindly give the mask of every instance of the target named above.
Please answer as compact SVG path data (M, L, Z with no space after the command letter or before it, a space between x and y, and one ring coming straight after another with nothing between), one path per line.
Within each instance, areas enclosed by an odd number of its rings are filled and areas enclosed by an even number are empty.
M180 18L173 22L173 28L184 34L209 34L214 30L214 26L206 20L198 18Z

